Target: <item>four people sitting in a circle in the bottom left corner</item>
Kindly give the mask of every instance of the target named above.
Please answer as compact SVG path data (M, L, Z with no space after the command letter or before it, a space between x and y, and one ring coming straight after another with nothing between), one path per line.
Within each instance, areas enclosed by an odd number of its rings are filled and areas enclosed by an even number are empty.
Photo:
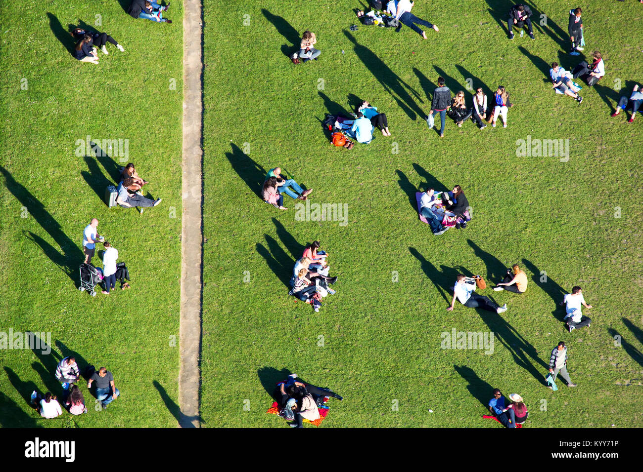
M101 407L104 410L109 403L120 395L120 391L114 386L114 376L105 367L101 367L97 372L93 369L93 366L88 367L89 369L86 370L85 374L88 379L87 389L91 389L92 383L96 382L96 399L101 402ZM62 385L62 403L66 410L72 415L87 413L85 398L78 385L76 385L77 381L80 380L80 369L78 369L74 356L65 357L58 363L55 377ZM62 408L58 398L51 392L41 395L33 390L31 405L43 418L51 419L62 415Z

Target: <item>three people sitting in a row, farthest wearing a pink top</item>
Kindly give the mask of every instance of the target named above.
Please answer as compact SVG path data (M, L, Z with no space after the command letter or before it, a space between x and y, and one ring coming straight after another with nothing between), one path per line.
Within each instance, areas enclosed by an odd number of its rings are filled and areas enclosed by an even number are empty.
M320 311L321 299L335 290L329 287L337 281L337 276L329 275L328 253L318 250L319 241L312 241L303 250L302 258L293 267L289 295L294 295L302 302L312 305L314 311Z

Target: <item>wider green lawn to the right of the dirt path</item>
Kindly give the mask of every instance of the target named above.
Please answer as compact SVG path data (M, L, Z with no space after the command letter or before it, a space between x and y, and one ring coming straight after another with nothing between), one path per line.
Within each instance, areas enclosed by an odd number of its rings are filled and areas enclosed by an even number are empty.
M642 37L629 25L643 10L581 5L584 53L601 51L607 74L577 105L546 81L550 62L569 70L583 59L566 54L577 4L530 4L536 40L510 42L503 1L417 1L413 12L440 27L428 40L406 27L349 31L359 2L348 0L204 2L205 426L285 426L265 412L289 372L345 396L331 400L325 426L500 427L480 418L495 387L525 398L530 427L643 425L643 139L638 121L610 118L641 80ZM284 52L306 29L320 59L293 66ZM515 104L509 127L448 119L439 139L424 116L440 75L467 94L471 78L489 100L505 85ZM320 120L349 112L356 97L386 112L393 135L334 148ZM568 161L518 157L518 140L529 136L568 139ZM288 211L264 204L264 173L278 165L314 189L311 202L347 204L347 224L297 221L289 197ZM464 188L467 229L436 238L419 222L414 192L427 183ZM339 276L319 313L285 286L316 239ZM483 292L506 302L506 313L459 303L446 311L458 272L498 281L514 262L529 277L525 295L493 292L493 283ZM593 322L568 333L557 303L576 284ZM494 353L440 349L440 334L453 328L493 331ZM579 387L552 393L541 380L559 340Z

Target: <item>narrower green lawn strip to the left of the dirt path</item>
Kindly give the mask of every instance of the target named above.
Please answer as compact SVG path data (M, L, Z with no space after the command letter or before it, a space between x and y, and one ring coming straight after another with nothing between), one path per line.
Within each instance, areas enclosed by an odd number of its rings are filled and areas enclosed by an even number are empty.
M179 347L170 337L179 335L183 12L173 3L174 24L156 24L132 19L126 3L5 3L0 12L0 331L50 332L52 344L49 355L0 350L3 427L176 425ZM125 53L108 44L98 66L75 60L68 25L79 21ZM87 135L128 140L129 155L114 147L79 156L77 140ZM163 198L142 215L102 201L128 161ZM129 267L127 292L76 290L82 231L93 217ZM102 267L99 249L93 263ZM60 398L53 371L70 352L81 367L113 372L121 398L96 412L81 383L89 414L40 419L30 394Z

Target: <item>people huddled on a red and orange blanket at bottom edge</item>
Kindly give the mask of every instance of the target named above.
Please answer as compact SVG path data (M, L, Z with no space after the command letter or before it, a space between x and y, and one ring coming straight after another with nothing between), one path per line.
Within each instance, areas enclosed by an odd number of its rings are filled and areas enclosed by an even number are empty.
M303 420L315 421L320 418L318 406L325 403L326 398L343 398L331 389L316 387L310 383L296 380L297 374L290 374L287 380L276 387L276 397L279 398L280 415L290 423L291 428L303 428Z

